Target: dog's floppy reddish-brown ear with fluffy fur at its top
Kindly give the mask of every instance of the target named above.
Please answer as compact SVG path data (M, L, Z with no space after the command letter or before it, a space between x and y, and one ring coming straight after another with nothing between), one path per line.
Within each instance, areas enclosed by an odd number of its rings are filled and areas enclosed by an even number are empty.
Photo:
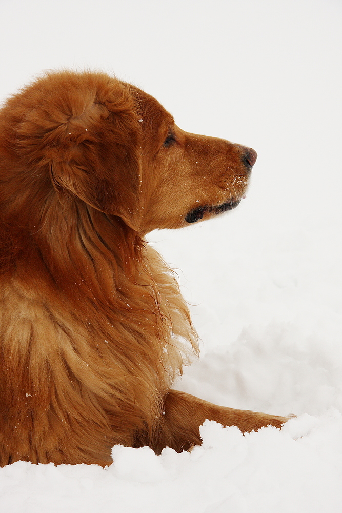
M67 78L52 108L63 122L45 137L54 187L138 231L141 129L129 85L102 74Z

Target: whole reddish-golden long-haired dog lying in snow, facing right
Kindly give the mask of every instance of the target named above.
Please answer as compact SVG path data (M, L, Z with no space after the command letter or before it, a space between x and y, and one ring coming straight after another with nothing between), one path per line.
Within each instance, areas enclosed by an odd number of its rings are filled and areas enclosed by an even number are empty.
M287 417L171 388L197 335L144 240L235 208L256 152L185 132L152 96L91 72L9 98L0 134L0 464L189 450L206 419L280 428Z

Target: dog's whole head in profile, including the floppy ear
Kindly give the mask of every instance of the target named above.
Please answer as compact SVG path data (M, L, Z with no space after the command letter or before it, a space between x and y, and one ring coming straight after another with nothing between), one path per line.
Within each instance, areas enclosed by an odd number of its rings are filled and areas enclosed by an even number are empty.
M181 130L155 98L102 73L49 74L8 105L33 176L47 169L57 194L141 233L236 207L256 160L250 148Z

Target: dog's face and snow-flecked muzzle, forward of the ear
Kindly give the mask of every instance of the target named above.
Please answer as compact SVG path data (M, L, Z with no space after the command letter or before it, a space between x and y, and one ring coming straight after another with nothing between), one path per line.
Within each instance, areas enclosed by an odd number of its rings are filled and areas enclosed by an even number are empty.
M185 132L155 98L132 88L142 125L144 231L179 228L235 208L257 154L223 139Z

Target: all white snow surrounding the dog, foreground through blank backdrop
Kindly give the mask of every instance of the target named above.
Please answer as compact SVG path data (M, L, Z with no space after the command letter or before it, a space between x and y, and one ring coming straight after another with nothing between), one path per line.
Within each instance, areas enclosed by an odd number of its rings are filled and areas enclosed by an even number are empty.
M116 446L106 469L16 462L0 469L1 509L339 513L340 3L3 4L2 98L44 69L114 71L185 130L256 149L237 209L149 240L176 269L203 341L175 387L297 418L245 436L206 421L192 452Z

